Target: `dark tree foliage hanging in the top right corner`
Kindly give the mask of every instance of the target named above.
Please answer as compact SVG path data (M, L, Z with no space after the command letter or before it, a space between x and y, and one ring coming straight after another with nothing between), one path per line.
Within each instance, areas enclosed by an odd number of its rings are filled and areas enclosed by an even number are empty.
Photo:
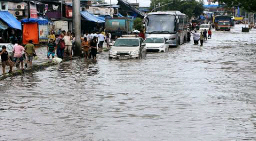
M241 7L249 12L256 12L255 0L220 0L218 2L228 7Z

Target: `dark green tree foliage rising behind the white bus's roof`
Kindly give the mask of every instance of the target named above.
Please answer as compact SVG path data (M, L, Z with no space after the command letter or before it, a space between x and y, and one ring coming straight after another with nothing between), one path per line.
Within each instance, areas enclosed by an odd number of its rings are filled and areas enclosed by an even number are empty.
M171 3L169 5L159 7L156 11L180 11L181 13L187 14L189 17L199 16L204 11L204 3L203 1L196 0L151 0L150 8L153 10L155 7Z

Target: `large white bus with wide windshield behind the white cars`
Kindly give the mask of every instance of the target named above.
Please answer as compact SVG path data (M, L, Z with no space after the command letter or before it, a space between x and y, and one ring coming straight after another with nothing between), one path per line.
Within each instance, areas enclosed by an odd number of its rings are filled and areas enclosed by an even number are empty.
M143 20L146 37L165 37L169 46L179 46L187 40L188 18L179 11L149 13Z

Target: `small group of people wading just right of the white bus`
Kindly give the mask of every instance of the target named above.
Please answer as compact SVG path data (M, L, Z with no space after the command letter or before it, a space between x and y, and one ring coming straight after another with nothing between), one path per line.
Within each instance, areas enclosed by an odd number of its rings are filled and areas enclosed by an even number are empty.
M194 44L198 45L199 41L201 46L203 46L204 41L207 41L207 39L211 39L212 38L212 31L211 29L209 29L208 31L206 31L206 29L204 31L201 31L200 34L197 33L197 31L195 31L194 33L189 31L189 33L193 34L193 39L194 39ZM208 34L208 37L207 37Z

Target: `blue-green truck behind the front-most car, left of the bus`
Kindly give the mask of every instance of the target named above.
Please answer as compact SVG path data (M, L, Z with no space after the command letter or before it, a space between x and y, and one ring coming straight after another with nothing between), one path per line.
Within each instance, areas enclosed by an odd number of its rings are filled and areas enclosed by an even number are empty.
M130 17L115 17L105 20L105 32L111 34L111 38L121 37L124 34L132 34L133 20Z

